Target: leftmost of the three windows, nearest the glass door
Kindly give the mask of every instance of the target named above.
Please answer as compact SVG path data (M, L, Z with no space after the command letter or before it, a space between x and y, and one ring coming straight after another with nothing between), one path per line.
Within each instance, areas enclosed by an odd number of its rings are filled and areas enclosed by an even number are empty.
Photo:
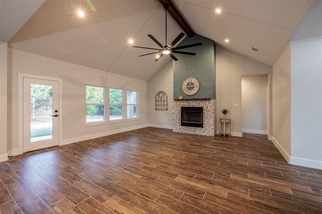
M86 122L102 122L105 120L105 87L86 86Z

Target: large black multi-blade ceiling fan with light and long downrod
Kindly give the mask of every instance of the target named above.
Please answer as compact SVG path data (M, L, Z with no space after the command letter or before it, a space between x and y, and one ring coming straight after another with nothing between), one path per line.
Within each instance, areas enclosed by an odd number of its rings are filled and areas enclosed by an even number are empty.
M143 55L140 55L138 57L142 57L142 56L146 56L146 55L150 55L150 54L160 53L159 57L156 58L156 60L154 60L154 61L158 61L163 55L169 55L172 59L174 59L175 61L177 61L178 59L173 55L173 53L176 53L176 54L187 54L187 55L196 55L196 53L184 52L184 51L178 51L178 50L185 49L185 48L190 48L190 47L195 47L195 46L200 46L200 45L202 45L202 43L194 43L194 44L190 44L190 45L184 45L184 46L180 46L180 47L173 48L173 46L176 45L179 42L179 40L181 40L185 36L184 33L179 34L178 37L174 41L172 41L172 43L169 46L167 45L167 10L169 8L169 5L168 4L165 4L164 5L164 8L166 10L166 45L163 46L151 34L148 34L147 36L149 38L151 38L160 47L160 49L132 46L134 48L144 48L144 49L150 49L150 50L156 50L157 51L157 52L153 52L153 53L149 53L149 54L143 54Z

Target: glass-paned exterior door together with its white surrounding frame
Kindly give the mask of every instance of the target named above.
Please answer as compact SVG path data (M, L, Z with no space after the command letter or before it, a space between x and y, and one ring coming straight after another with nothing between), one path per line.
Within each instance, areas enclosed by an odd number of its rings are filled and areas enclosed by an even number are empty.
M62 80L18 74L18 152L59 145Z

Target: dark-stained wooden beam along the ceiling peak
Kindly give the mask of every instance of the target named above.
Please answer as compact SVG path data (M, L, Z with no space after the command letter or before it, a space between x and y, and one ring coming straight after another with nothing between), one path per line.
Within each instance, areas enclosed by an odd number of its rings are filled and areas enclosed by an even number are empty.
M169 5L168 13L173 17L173 19L178 23L178 25L187 34L188 37L193 37L193 31L191 30L189 25L186 23L184 18L181 16L179 11L176 9L174 4L171 2L171 0L159 0L159 2L163 6L165 6L165 4Z

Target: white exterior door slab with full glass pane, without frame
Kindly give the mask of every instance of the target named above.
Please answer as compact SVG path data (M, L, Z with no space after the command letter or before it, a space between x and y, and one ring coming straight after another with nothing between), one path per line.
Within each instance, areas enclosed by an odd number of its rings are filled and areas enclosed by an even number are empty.
M59 82L23 78L23 152L58 145Z

